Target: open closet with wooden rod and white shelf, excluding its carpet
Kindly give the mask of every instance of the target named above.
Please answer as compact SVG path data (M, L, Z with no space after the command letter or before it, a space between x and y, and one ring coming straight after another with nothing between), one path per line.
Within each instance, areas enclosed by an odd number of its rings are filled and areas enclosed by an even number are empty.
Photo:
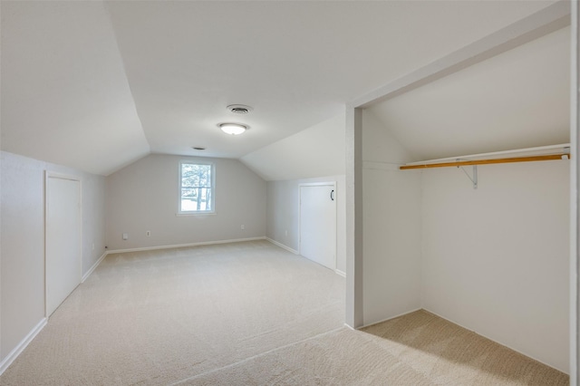
M500 53L482 39L478 63L459 50L353 102L353 327L422 309L575 372L573 33L548 16L526 43L506 49L499 31Z

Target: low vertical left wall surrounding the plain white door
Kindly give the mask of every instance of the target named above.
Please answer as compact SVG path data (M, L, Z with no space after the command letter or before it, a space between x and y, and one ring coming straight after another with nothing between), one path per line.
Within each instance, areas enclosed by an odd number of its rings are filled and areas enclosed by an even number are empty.
M44 317L44 173L82 184L82 272L105 252L102 176L1 152L0 362ZM94 249L92 245L94 244Z

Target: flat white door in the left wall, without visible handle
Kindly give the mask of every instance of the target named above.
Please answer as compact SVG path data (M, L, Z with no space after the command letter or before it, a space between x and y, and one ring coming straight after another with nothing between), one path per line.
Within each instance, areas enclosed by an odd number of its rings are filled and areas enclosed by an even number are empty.
M46 179L46 316L81 284L80 187L74 179Z

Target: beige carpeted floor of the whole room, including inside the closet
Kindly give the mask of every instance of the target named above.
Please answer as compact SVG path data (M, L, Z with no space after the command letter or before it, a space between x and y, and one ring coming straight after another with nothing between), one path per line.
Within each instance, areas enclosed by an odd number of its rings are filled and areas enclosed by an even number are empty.
M343 277L266 241L111 255L0 384L568 384L425 311L343 315Z

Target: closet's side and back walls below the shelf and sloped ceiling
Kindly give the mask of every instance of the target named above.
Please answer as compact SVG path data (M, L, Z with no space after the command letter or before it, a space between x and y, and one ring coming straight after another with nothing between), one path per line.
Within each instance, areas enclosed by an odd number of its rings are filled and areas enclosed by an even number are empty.
M399 170L411 153L362 114L363 323L423 308L568 372L570 161L480 165L474 189Z

